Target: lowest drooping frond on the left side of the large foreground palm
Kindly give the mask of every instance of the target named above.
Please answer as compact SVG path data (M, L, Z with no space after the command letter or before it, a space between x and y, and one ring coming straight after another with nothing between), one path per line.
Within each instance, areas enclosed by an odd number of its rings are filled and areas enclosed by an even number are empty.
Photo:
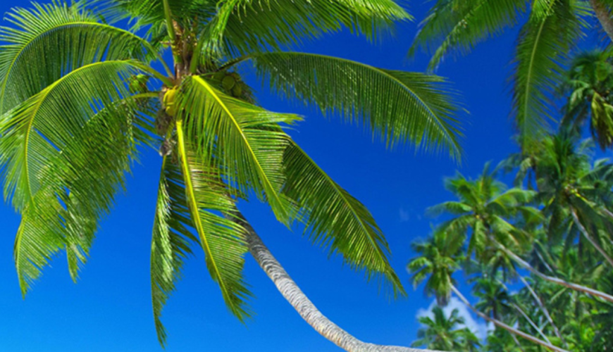
M25 295L51 256L66 249L73 279L87 260L99 220L123 189L135 158L132 106L123 101L93 115L39 170L39 189L22 211L14 256Z

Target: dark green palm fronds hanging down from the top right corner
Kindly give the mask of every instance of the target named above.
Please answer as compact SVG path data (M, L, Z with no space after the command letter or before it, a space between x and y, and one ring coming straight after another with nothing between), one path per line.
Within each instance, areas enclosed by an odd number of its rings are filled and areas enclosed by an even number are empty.
M411 52L431 51L430 68L435 69L447 56L468 53L523 23L513 59L513 113L521 146L527 149L552 115L551 82L562 77L570 49L592 28L594 15L613 40L612 5L610 0L438 0Z

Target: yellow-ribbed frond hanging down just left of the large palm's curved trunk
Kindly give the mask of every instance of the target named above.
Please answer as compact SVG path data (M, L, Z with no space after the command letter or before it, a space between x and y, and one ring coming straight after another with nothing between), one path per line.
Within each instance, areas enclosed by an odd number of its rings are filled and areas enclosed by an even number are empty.
M246 299L252 294L242 277L245 229L219 213L230 214L235 200L216 168L199 161L177 122L177 149L190 225L198 235L206 267L221 289L226 306L241 321L251 315ZM172 180L172 182L177 182ZM181 218L185 218L182 216Z

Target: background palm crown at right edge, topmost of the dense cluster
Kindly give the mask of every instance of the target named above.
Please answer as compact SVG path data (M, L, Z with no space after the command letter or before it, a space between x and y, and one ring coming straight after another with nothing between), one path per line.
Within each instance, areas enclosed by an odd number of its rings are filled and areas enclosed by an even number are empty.
M590 165L583 152L587 145L576 148L574 139L565 133L542 139L539 146L535 172L539 198L545 204L543 213L548 218L547 237L570 242L579 235L579 241L585 238L613 266L607 248L611 237L606 231L613 224L607 209L612 165L605 161Z

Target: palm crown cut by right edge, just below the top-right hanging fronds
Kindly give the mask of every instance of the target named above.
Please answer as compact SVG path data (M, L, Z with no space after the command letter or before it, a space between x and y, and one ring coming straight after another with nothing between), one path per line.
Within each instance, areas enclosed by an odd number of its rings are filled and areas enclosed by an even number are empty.
M586 51L575 56L562 84L568 94L563 128L579 132L590 120L590 130L600 148L613 145L613 58L609 51Z

